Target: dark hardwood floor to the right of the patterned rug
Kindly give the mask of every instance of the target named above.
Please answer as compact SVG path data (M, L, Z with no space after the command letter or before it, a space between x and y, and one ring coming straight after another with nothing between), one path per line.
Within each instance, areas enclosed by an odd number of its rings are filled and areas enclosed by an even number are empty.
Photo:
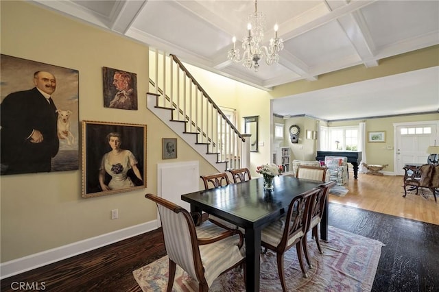
M439 291L439 226L341 204L329 225L385 244L372 291Z

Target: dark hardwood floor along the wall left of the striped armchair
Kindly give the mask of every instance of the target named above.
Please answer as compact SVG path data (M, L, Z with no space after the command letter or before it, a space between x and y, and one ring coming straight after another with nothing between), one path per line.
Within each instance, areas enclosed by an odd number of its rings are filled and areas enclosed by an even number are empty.
M45 267L1 280L0 291L16 289L20 283L43 287L44 291L141 291L132 276L139 269L165 256L160 230L61 260ZM38 289L28 289L36 291Z

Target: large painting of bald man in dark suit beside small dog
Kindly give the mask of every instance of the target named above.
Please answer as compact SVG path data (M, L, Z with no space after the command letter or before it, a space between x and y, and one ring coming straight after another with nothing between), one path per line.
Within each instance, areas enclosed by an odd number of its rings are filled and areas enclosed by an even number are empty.
M1 54L1 175L79 169L79 72Z

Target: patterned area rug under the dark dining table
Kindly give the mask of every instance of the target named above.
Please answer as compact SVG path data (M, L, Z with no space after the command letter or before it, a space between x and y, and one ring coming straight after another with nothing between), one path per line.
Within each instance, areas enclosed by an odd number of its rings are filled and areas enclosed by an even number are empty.
M311 232L309 232L311 233ZM324 254L309 239L313 269L309 278L302 277L296 248L284 255L285 280L288 291L370 291L383 243L329 226L329 243L321 242ZM306 262L305 262L306 263ZM166 291L168 258L132 272L143 291ZM276 254L261 254L261 291L282 291L279 282ZM198 291L198 284L177 266L172 291ZM241 269L223 274L213 282L209 291L245 291Z

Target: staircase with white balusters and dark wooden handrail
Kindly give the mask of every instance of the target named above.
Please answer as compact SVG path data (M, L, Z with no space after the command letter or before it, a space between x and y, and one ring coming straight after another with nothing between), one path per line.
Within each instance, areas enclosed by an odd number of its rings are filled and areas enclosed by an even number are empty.
M250 167L250 135L239 133L176 56L150 51L147 108L218 172Z

